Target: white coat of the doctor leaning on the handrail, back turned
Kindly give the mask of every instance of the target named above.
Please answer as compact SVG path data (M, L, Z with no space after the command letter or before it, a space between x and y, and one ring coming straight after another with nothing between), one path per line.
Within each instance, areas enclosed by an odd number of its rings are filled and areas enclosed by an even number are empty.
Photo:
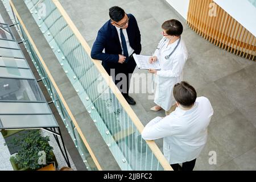
M142 131L142 138L163 138L163 154L170 164L196 159L207 142L207 127L213 115L206 97L197 97L192 109L176 107L165 118L152 119Z

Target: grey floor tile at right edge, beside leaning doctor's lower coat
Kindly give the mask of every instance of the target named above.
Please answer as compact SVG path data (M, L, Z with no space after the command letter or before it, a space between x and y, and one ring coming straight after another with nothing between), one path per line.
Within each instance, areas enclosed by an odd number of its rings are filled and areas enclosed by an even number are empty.
M239 110L210 125L210 134L232 158L255 147L256 129Z

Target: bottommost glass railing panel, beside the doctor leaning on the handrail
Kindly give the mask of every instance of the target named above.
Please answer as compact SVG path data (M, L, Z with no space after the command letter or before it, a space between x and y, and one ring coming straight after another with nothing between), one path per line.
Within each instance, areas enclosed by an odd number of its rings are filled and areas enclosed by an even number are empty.
M110 89L87 109L123 170L163 170Z

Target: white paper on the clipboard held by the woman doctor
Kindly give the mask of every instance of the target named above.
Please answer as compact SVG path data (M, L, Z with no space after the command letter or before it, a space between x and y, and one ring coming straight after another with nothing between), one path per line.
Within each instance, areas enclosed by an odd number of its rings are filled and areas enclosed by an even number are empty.
M133 57L139 69L156 69L156 70L161 69L159 65L159 61L155 61L152 64L149 63L148 60L151 56L137 55L134 53Z

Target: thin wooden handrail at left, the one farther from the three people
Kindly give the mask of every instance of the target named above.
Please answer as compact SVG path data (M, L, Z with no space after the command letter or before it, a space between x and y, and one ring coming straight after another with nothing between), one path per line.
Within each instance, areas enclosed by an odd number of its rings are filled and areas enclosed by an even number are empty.
M74 123L77 132L79 133L79 135L80 135L82 141L84 142L84 144L85 144L87 150L89 151L89 154L90 154L90 156L91 156L92 159L93 159L93 162L96 164L96 167L98 168L98 170L99 170L99 171L102 171L102 168L101 168L100 164L98 163L98 160L96 159L95 155L93 154L93 151L92 151L92 149L90 148L88 142L86 141L86 139L85 139L85 137L84 137L84 134L82 134L82 131L81 131L79 125L77 124L75 117L73 116L71 110L69 109L69 107L68 107L68 105L67 105L67 102L64 100L64 97L63 97L63 95L61 94L60 89L58 88L56 82L54 81L54 79L53 79L53 77L52 77L52 75L51 75L51 72L49 72L46 63L44 63L44 60L43 60L42 56L40 55L40 52L38 51L38 48L36 47L36 45L35 45L33 39L31 38L31 36L30 36L30 34L29 34L29 32L27 31L26 26L24 26L24 23L23 23L22 19L20 18L19 14L18 14L18 11L15 9L15 6L14 6L12 0L10 0L10 5L11 5L11 8L13 9L13 11L14 11L16 17L18 18L20 25L23 27L23 30L24 30L24 32L26 33L28 40L30 40L30 43L31 43L32 47L34 48L34 50L35 50L35 52L36 52L36 55L38 55L38 58L39 58L40 62L42 63L42 65L43 65L43 67L44 67L44 70L46 71L46 73L47 73L47 75L48 75L49 80L51 80L52 85L53 85L53 87L55 88L55 90L56 90L56 92L57 92L57 94L58 94L58 96L59 96L61 102L63 102L63 105L64 105L65 109L67 110L69 117L71 117L72 122Z

